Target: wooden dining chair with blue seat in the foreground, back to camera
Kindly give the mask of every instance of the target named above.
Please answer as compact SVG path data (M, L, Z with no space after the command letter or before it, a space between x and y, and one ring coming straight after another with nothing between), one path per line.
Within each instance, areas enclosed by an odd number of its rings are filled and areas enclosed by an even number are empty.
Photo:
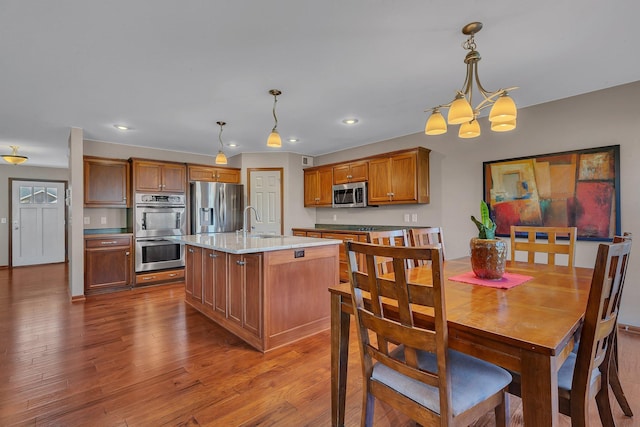
M364 378L361 425L372 425L375 399L421 425L468 426L492 410L496 424L507 425L510 374L448 348L442 250L356 242L346 250ZM379 257L392 260L394 274L375 268ZM412 259L432 263L431 286L407 281ZM433 313L430 328L414 325L419 310Z

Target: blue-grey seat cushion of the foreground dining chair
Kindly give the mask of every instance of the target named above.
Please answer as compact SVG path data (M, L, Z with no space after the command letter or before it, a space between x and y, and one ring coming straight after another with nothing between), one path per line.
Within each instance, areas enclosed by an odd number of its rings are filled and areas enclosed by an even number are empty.
M398 346L392 354L395 358L404 360L404 347ZM447 363L451 377L451 409L454 417L484 401L511 382L511 374L506 370L455 350L449 350ZM438 370L434 353L418 352L418 364L421 369L431 372ZM374 365L371 378L436 414L440 413L440 394L437 387L409 378L382 363Z

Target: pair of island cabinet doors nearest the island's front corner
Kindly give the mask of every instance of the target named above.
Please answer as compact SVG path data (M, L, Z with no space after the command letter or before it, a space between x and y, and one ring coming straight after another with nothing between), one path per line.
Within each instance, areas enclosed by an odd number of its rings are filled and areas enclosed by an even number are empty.
M229 254L228 259L227 317L260 338L262 336L262 255Z

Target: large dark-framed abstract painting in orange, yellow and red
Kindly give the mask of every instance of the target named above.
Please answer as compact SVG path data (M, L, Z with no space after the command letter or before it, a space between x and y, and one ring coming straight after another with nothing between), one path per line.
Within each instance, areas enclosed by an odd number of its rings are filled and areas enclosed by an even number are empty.
M484 162L497 236L512 225L578 228L579 240L620 234L620 146Z

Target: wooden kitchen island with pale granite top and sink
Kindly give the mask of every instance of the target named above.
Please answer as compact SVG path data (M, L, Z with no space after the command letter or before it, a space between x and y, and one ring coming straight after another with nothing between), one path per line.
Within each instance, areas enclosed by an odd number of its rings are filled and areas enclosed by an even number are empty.
M214 233L186 245L187 304L266 352L330 327L340 240Z

